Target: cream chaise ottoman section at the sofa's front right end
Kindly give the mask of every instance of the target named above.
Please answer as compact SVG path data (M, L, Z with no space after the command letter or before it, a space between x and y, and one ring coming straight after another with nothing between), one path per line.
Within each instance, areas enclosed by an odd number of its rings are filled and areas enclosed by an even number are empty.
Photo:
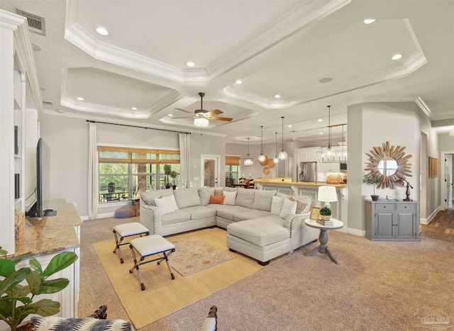
M283 223L277 215L231 223L227 226L227 247L266 265L292 251L290 232Z

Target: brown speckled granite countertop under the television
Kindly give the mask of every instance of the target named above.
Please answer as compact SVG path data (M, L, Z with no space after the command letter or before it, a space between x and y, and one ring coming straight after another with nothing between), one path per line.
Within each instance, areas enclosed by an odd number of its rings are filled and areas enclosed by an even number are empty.
M26 220L23 236L16 240L15 255L30 252L31 256L55 254L80 246L74 227L82 220L72 203L52 200L50 207L57 215Z

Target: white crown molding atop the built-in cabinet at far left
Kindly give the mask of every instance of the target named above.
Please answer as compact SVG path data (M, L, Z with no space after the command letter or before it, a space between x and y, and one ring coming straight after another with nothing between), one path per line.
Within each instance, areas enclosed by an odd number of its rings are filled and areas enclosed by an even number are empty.
M25 74L30 82L31 95L35 101L38 116L44 114L43 98L41 97L38 72L36 70L35 57L33 56L33 47L31 45L30 33L28 32L28 23L26 18L0 10L0 27L13 30L14 49L19 66L25 70ZM22 72L24 74L24 72Z

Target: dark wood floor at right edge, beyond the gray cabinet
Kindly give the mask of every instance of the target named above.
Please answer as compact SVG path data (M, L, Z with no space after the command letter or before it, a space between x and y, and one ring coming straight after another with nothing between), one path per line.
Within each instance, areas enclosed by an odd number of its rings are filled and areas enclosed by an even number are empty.
M454 208L438 211L431 223L421 224L420 236L454 242Z

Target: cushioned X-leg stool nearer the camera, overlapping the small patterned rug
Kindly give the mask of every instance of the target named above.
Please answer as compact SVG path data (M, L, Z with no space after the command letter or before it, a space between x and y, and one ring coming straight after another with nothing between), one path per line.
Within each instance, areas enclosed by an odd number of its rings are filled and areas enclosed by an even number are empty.
M170 271L170 276L172 276L172 279L175 279L175 275L172 272L172 266L170 265L170 261L168 259L168 257L170 257L170 254L175 252L175 245L173 245L171 242L165 240L160 235L148 235L146 237L140 237L131 240L131 242L129 243L129 248L131 248L131 255L134 259L134 267L129 272L132 274L134 269L137 269L140 288L142 288L142 291L145 290L145 285L143 285L142 274L140 274L140 264L155 261L157 261L157 264L160 264L163 260L165 260ZM140 255L139 260L137 260L137 258L135 257L135 252L138 252L138 254ZM164 257L161 257L159 255L161 253L164 255ZM155 254L158 254L157 258L145 262L146 257L150 257L151 255Z

